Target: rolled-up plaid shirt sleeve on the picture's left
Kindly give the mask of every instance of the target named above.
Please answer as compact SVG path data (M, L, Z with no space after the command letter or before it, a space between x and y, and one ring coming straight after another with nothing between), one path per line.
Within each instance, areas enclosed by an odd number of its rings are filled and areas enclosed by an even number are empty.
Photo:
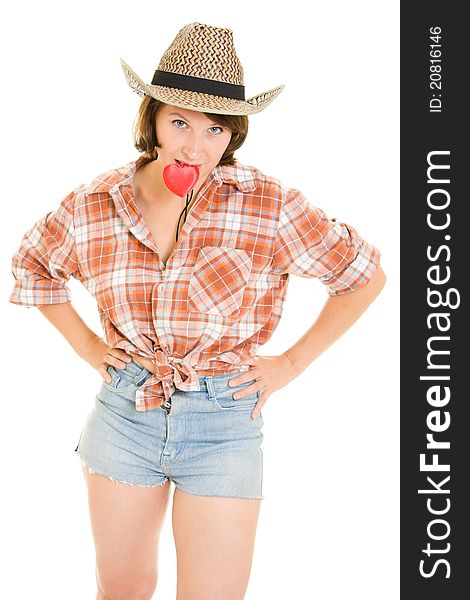
M11 259L15 278L9 301L22 306L62 304L71 300L67 282L80 278L74 237L77 188L24 234Z

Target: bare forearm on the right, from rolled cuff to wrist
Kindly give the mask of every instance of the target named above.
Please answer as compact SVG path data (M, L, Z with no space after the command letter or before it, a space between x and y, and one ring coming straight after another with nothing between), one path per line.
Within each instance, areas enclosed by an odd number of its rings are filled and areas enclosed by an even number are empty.
M357 321L379 295L385 280L385 273L379 266L364 287L328 298L315 323L284 353L298 373L304 371Z

